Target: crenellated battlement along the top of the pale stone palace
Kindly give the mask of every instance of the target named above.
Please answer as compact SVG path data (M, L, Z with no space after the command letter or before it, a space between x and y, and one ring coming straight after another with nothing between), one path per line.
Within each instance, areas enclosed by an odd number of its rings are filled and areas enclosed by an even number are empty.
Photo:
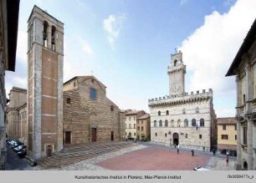
M154 104L161 104L161 103L166 103L166 102L177 102L179 100L187 100L187 99L202 99L202 98L208 98L212 97L212 89L202 89L202 93L200 93L199 90L197 90L196 93L191 92L190 94L185 93L182 95L173 95L173 96L163 96L155 99L148 99L148 104L149 105L154 105Z

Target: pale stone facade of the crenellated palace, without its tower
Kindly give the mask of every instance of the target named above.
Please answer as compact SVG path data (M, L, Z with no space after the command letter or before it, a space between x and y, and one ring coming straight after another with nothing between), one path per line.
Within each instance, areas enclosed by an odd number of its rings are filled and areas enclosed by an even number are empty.
M151 141L173 145L173 135L177 133L179 144L182 147L211 150L212 90L210 93L200 94L197 92L197 94L179 96L174 99L151 99L149 100L149 107L151 113ZM188 121L188 126L185 125L185 119ZM196 119L195 126L192 126L192 119ZM204 126L200 126L201 119L204 120ZM160 126L160 120L162 126ZM168 121L167 126L165 126L166 120ZM154 121L156 121L156 127L154 127Z

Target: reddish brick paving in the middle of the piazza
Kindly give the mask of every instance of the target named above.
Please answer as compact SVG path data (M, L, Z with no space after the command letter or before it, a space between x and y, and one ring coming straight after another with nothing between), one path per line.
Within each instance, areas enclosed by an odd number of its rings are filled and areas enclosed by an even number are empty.
M196 165L206 166L208 160L208 155L192 156L182 150L177 154L177 150L155 146L110 158L96 165L108 170L193 170Z

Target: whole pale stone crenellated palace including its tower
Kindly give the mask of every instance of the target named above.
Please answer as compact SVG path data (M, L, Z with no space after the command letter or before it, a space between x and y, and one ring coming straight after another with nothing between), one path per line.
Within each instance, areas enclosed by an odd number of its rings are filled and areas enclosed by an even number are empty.
M185 93L182 53L172 54L168 67L169 95L148 100L151 142L210 151L217 145L212 89Z

